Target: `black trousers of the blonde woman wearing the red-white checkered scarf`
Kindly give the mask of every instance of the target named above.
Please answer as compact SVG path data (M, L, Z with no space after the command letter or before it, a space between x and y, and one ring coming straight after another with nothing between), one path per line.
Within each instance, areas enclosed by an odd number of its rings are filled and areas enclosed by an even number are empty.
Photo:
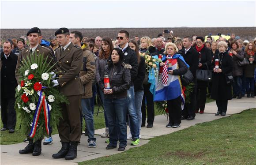
M167 108L169 111L169 123L181 124L181 97L167 100Z

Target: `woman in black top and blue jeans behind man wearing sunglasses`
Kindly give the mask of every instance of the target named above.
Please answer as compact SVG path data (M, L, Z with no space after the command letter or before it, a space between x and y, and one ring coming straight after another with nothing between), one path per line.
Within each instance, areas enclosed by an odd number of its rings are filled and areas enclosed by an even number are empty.
M146 74L146 64L145 59L143 56L140 56L139 54L139 46L135 40L131 40L128 42L131 49L133 49L136 52L137 58L138 58L138 74L133 82L134 85L134 101L135 101L135 108L136 108L136 114L138 117L138 123L139 123L139 132L141 130L141 122L142 122L142 114L141 114L141 105L143 100L143 80L145 78ZM139 135L140 137L140 135ZM130 133L127 136L127 139L131 139L132 134Z

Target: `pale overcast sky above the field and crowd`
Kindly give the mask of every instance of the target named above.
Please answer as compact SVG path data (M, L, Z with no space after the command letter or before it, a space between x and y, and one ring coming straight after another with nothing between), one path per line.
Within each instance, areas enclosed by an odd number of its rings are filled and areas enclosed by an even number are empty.
M256 26L256 0L0 0L0 28Z

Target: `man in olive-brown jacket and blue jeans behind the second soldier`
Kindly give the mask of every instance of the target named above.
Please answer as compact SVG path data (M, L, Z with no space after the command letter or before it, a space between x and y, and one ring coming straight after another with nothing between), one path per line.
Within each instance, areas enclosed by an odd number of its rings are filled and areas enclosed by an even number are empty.
M95 60L93 53L87 44L81 43L83 35L79 31L72 31L70 33L70 40L74 45L78 45L83 49L83 68L79 72L79 78L84 87L84 95L82 95L81 105L82 114L85 120L88 131L88 147L96 147L96 138L94 138L94 121L93 109L91 109L90 98L92 97L92 79L95 77ZM82 120L83 120L82 118Z

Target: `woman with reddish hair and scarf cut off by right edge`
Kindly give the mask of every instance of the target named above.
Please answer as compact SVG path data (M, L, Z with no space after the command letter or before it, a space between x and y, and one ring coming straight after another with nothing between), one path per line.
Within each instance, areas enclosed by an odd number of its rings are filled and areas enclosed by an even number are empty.
M246 93L247 97L254 98L254 70L256 68L255 58L256 48L252 41L250 41L245 47L245 58L249 61L248 65L245 65L245 77L246 77Z

